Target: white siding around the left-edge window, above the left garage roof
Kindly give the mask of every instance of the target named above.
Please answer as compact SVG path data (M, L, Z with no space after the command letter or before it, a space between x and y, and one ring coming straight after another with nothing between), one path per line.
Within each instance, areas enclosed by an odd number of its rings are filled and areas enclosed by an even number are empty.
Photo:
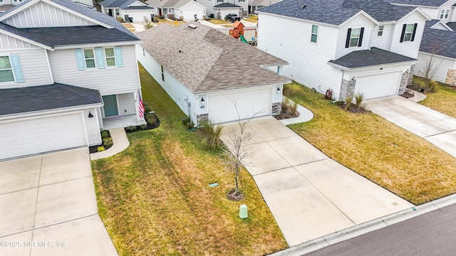
M19 55L24 82L3 82L1 87L27 87L34 85L50 85L53 83L49 70L46 50L43 48L28 48L18 50L0 51L0 55Z

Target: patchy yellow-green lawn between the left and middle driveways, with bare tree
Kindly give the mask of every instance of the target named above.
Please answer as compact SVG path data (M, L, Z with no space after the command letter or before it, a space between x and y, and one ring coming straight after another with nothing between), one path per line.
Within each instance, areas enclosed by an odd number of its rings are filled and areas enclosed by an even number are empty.
M265 255L287 247L252 176L242 172L246 199L228 201L234 188L199 132L140 66L143 100L160 127L128 134L130 147L92 162L100 217L120 255ZM219 186L209 188L209 183ZM241 220L239 205L249 218Z

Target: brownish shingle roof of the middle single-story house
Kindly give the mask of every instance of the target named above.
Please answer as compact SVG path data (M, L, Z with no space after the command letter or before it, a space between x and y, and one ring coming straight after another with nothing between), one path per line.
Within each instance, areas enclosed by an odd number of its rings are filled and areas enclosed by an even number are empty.
M138 37L145 50L192 92L289 81L260 67L286 65L286 61L200 23L163 24L138 33Z

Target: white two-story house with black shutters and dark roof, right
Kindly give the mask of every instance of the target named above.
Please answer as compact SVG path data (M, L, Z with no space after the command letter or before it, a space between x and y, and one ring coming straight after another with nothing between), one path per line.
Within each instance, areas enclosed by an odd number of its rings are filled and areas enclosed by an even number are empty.
M430 19L373 0L284 0L257 12L258 48L289 63L286 77L334 100L405 92Z

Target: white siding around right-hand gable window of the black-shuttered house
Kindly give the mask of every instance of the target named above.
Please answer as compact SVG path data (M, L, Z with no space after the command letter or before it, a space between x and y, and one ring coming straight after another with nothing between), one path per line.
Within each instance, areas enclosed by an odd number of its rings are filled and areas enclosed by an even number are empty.
M416 29L415 34L415 41L408 41L400 43L400 36L402 33L403 24L413 24L418 23L418 27ZM398 21L395 26L394 36L393 36L393 43L391 45L391 51L393 53L402 54L408 56L410 58L417 58L418 57L418 50L420 49L421 38L423 37L423 30L425 28L425 20L421 14L418 12L414 12L410 14L408 17Z

